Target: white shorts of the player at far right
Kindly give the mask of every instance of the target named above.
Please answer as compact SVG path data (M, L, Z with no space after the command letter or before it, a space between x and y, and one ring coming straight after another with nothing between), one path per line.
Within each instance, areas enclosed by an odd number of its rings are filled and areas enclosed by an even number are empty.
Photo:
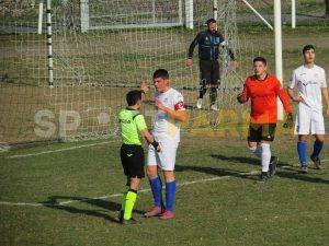
M298 107L295 124L295 134L325 134L322 112L309 107Z

